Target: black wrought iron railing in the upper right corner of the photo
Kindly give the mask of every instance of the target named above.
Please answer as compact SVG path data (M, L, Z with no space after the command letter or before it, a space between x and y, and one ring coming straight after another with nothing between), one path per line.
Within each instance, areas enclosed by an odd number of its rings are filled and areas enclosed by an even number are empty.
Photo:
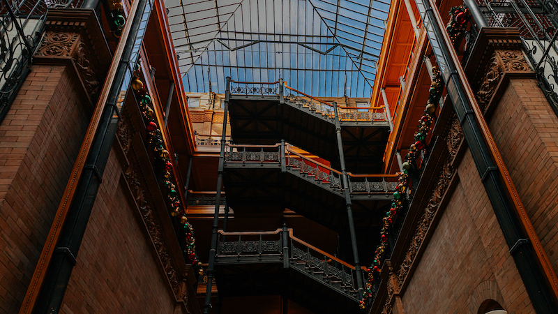
M489 27L517 27L520 30L538 86L558 115L558 1L477 0L477 3ZM474 39L474 34L471 38Z

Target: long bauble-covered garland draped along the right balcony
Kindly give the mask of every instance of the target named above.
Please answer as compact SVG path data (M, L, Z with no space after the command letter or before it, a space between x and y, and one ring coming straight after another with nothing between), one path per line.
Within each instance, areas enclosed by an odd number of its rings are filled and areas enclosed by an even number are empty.
M437 105L439 103L440 97L442 97L442 90L444 89L444 83L442 81L442 75L438 68L432 68L432 83L430 84L430 90L428 95L428 103L424 110L424 114L420 120L418 120L418 131L414 134L414 144L409 147L409 152L405 156L405 163L403 163L403 173L399 176L399 184L395 188L395 193L393 193L393 200L391 201L391 208L386 211L386 216L383 218L382 230L380 230L380 244L377 246L374 253L374 261L369 269L366 269L368 274L368 281L366 281L362 299L360 301L361 308L365 308L365 303L368 298L372 297L372 283L375 278L380 275L382 269L380 268L382 259L384 257L384 252L387 248L388 234L393 226L393 221L398 211L402 209L402 198L409 188L409 169L415 163L416 158L420 155L422 149L426 145L426 137L428 136L428 131L430 126L435 119L435 112Z

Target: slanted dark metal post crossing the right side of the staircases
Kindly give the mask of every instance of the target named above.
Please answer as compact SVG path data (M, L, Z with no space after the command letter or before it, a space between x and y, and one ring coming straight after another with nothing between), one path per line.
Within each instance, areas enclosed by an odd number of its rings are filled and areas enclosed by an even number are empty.
M341 137L341 123L339 121L337 103L333 102L333 112L335 113L335 133L337 133L337 147L339 149L339 158L341 163L341 172L343 177L343 190L345 191L345 204L347 204L347 218L349 220L349 233L351 234L351 244L354 257L354 269L356 271L356 285L359 293L363 290L363 280L361 276L361 263L359 261L359 250L356 246L356 232L354 230L354 219L352 211L351 193L349 189L349 178L347 176L347 168L345 167L345 154L343 152L343 142Z

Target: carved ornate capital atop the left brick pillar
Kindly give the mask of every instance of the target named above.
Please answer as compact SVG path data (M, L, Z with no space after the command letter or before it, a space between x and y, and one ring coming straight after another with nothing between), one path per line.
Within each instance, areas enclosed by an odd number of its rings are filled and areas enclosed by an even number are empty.
M72 63L87 96L94 102L112 59L93 10L52 9L34 63Z

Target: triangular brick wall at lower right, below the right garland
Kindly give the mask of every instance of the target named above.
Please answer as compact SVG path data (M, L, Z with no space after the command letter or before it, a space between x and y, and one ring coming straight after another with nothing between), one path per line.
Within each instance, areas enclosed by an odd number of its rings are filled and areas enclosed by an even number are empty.
M508 313L534 313L469 151L457 172L460 181L402 296L405 313L477 313L485 299Z

